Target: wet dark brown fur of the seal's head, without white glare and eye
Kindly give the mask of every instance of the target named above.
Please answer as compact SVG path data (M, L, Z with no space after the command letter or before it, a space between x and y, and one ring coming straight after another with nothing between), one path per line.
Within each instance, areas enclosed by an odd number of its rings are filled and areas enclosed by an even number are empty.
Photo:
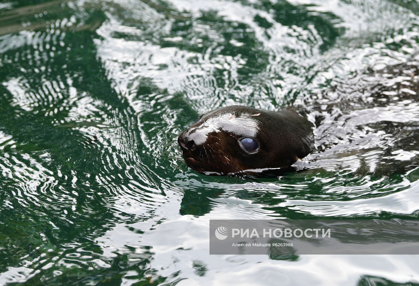
M228 106L210 111L200 116L201 121L186 129L178 140L185 137L189 129L205 124L220 113L233 113L237 119L242 114L260 113L252 118L258 121L259 131L255 138L260 149L254 154L241 149L238 139L243 137L243 133L240 129L234 132L214 131L194 151L182 149L186 165L193 170L227 175L246 170L246 173L254 173L256 169L286 168L313 149L313 125L295 111L263 111L246 106Z

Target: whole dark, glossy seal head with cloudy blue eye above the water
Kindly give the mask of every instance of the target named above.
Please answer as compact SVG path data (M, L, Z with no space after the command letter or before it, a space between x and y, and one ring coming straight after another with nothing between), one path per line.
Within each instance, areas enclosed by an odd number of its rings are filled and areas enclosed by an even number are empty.
M208 175L290 167L310 154L313 124L295 111L227 106L209 111L178 137L186 165Z

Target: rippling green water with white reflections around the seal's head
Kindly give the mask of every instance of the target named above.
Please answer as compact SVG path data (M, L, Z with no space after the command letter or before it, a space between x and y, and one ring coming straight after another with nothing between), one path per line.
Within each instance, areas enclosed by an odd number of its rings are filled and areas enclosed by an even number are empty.
M416 255L209 255L209 219L416 218L416 1L0 3L0 285L417 285ZM385 70L386 67L396 65ZM199 114L295 106L280 178L188 169Z

